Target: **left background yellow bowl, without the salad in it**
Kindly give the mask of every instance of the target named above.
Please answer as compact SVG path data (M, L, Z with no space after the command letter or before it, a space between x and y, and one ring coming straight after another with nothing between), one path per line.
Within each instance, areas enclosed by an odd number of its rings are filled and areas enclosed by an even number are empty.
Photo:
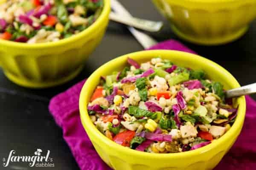
M57 42L27 44L0 40L0 66L12 82L29 88L47 88L73 79L102 40L110 10L110 0L104 0L102 14L95 23Z

